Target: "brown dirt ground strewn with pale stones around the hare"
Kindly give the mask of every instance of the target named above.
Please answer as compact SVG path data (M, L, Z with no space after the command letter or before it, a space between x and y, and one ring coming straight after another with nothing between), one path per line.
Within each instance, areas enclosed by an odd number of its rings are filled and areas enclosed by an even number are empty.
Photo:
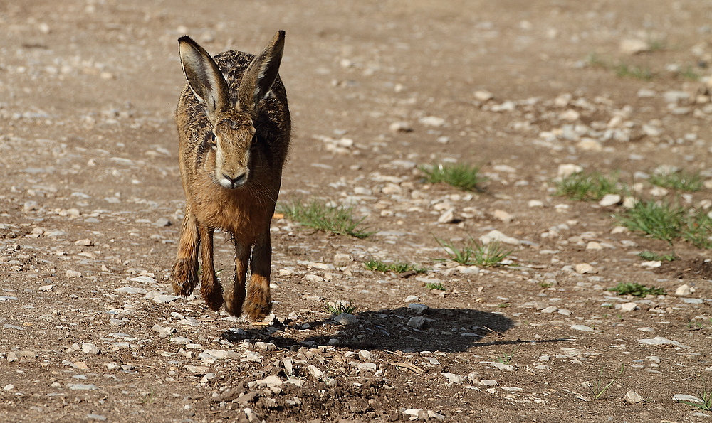
M278 29L281 201L376 233L274 218L274 319L253 324L171 295L177 38L258 53ZM712 422L673 400L712 391L710 252L554 182L620 171L649 197L642 175L676 166L706 188L665 198L710 207L712 1L0 1L0 36L0 420ZM488 181L424 183L442 162ZM436 237L492 230L512 266L442 260ZM223 279L231 251L216 238Z

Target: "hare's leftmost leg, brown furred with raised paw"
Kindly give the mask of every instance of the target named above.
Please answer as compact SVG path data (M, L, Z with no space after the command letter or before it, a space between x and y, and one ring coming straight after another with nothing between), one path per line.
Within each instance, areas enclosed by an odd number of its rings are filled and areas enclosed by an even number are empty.
M178 242L178 254L171 269L173 291L176 295L189 296L198 284L199 246L200 237L195 215L190 204L187 204Z

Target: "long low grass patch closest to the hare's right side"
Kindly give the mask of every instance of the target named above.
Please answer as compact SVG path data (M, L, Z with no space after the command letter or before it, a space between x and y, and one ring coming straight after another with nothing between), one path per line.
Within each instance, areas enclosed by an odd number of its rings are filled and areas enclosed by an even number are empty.
M306 204L300 199L292 200L290 203L280 204L278 212L302 225L337 235L362 239L375 233L368 231L368 227L362 226L365 217L360 219L354 217L353 208L344 205L329 207L321 200L314 199Z

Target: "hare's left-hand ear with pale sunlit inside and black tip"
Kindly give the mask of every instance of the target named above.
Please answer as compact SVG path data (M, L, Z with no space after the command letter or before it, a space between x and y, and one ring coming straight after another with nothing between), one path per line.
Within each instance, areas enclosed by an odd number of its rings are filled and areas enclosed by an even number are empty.
M208 109L208 119L229 106L227 82L208 52L189 36L178 39L180 61L188 85L199 102Z

